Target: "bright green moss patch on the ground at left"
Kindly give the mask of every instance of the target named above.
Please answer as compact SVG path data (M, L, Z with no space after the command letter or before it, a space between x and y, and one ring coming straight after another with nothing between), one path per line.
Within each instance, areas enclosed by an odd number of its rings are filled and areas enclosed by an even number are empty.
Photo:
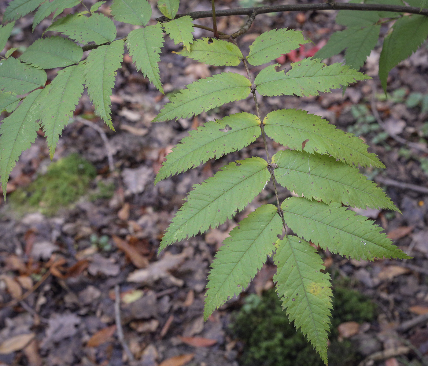
M27 187L15 190L9 202L18 212L40 209L43 214L53 215L86 193L96 175L89 161L71 154L49 165L46 174Z

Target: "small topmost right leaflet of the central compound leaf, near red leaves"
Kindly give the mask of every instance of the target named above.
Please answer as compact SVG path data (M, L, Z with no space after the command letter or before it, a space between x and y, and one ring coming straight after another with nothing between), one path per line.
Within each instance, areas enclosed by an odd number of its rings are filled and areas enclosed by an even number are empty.
M308 42L301 31L272 29L254 40L247 60L251 65L262 65Z

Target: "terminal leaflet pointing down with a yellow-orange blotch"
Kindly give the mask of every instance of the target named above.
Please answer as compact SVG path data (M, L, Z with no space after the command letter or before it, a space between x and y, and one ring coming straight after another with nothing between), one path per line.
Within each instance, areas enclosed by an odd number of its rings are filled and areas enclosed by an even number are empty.
M331 315L330 275L321 257L303 239L288 235L276 242L273 281L290 321L308 337L327 365L327 340Z

